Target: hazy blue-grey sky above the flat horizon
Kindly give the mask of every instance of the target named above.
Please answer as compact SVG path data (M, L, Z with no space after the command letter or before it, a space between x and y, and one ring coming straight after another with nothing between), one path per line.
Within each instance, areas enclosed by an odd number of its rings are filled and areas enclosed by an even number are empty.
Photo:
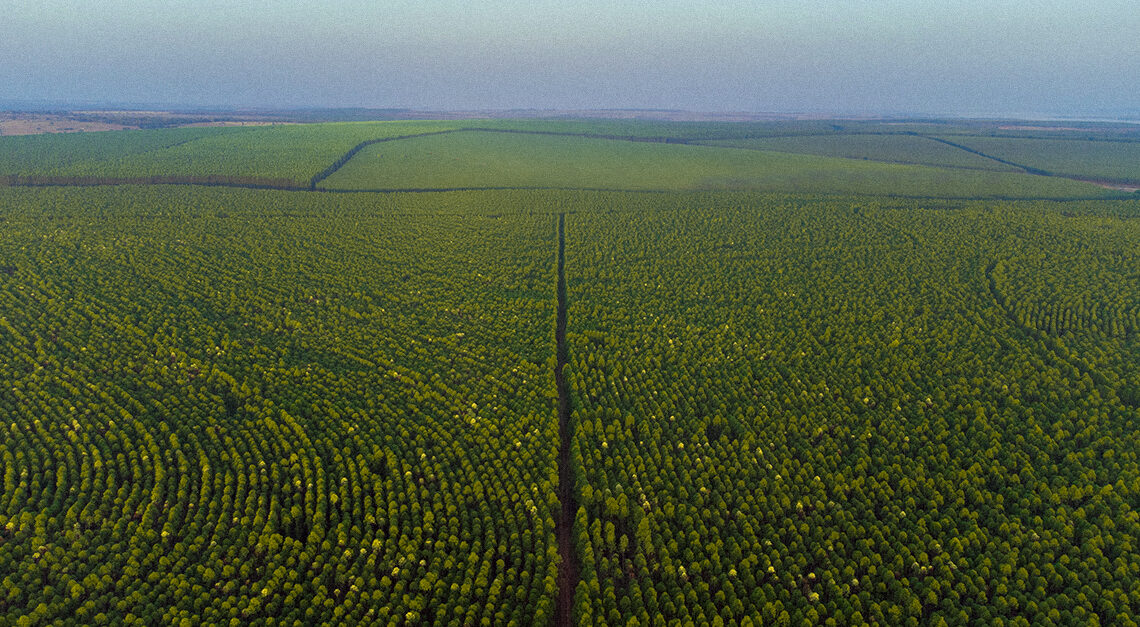
M1140 112L1137 0L0 0L0 100Z

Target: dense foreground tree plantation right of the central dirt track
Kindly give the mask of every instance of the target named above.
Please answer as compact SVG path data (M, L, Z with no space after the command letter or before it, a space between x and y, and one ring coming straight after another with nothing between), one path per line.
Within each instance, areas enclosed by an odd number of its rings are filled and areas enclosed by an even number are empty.
M1140 611L1135 220L726 198L567 230L584 624Z

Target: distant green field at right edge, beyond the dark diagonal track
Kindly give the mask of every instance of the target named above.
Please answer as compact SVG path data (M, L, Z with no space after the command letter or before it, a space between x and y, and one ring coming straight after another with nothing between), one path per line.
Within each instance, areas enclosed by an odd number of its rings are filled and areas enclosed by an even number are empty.
M1140 181L1140 141L948 136L979 153L1054 174Z

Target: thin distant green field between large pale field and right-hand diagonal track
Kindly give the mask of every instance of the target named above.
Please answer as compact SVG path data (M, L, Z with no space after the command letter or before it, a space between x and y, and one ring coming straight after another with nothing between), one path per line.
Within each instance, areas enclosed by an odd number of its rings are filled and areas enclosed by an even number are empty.
M864 158L889 163L942 165L1013 172L1016 168L992 158L975 155L925 137L912 135L807 135L797 137L768 137L727 139L705 142L709 146L777 150L809 155Z

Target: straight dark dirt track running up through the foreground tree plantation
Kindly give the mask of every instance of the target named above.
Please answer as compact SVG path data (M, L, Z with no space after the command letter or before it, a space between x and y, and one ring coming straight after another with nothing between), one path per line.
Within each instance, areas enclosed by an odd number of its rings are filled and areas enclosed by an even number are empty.
M559 540L559 600L554 614L556 627L573 625L573 593L578 587L578 556L573 551L571 530L573 519L578 513L578 499L575 498L573 473L570 470L570 442L573 432L570 427L570 391L567 386L563 369L567 365L567 274L565 274L565 221L567 214L559 213L559 312L555 323L554 337L556 365L554 366L554 383L559 389L559 503L561 511L554 523Z

